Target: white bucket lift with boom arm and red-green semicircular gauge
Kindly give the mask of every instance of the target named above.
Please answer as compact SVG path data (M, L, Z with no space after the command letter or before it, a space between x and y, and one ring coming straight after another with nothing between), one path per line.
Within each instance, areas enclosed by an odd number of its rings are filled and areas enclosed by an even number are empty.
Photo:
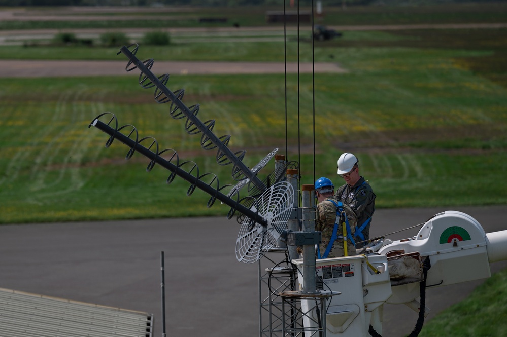
M431 266L424 278L428 259ZM419 311L420 282L435 287L487 278L489 264L505 259L507 230L486 234L474 218L456 211L436 214L412 238L386 240L378 253L318 259L321 289L342 293L327 305L326 336L367 337L370 324L382 334L384 303ZM305 288L302 275L298 278Z

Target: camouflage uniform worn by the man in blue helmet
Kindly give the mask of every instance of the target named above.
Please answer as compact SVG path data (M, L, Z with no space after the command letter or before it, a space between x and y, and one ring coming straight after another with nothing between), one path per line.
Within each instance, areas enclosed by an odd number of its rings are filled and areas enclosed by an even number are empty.
M322 243L319 245L320 256L323 256L324 252L326 251L327 245L329 244L329 241L331 239L331 235L333 234L334 222L336 221L336 206L331 201L329 201L330 199L334 200L336 203L339 202L339 200L333 196L330 198L326 198L325 200L317 204L316 211L317 214L315 217L316 218L315 230L322 232ZM349 219L350 230L352 231L352 234L354 234L354 229L357 223L356 214L349 206L345 204L343 205L343 209L345 210L345 214L347 214L347 218ZM343 226L341 223L339 223L336 235L343 236ZM350 242L350 240L347 241L347 254L348 255L356 254L356 249L354 248L354 245ZM343 238L338 238L334 240L333 248L331 249L327 257L329 258L341 256L344 256Z

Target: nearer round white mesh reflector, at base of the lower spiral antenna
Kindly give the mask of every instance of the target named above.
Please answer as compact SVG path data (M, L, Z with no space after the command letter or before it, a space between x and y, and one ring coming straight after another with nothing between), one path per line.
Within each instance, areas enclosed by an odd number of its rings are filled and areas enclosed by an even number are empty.
M251 210L267 221L267 226L245 218L236 240L236 259L244 263L254 263L276 245L292 212L294 189L286 181L281 181L266 190L252 206Z

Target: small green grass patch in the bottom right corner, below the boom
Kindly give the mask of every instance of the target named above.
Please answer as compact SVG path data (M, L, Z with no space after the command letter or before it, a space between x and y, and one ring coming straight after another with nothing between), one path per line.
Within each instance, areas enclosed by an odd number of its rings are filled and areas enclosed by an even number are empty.
M500 337L507 329L507 270L493 274L466 299L427 322L419 337Z

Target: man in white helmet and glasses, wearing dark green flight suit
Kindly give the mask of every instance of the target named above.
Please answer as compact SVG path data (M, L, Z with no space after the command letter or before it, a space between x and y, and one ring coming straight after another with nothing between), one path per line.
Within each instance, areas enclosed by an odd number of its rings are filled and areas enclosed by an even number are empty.
M357 243L369 239L371 217L375 212L375 193L368 181L359 175L359 160L350 152L346 152L338 159L338 174L345 180L345 184L336 190L334 196L342 203L349 205L356 213L357 227L354 233L356 248L366 243Z

